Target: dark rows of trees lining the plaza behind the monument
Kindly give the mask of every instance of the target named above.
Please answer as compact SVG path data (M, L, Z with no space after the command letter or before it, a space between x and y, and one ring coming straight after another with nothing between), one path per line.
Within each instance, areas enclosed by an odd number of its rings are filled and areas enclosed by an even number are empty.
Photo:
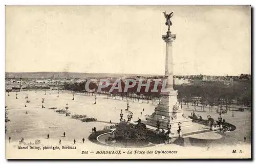
M154 88L154 84L155 82L152 81L148 92L145 91L145 86L142 86L141 89L137 91L138 83L134 87L128 88L127 92L124 92L125 83L121 80L121 91L114 89L110 92L112 85L109 85L106 88L102 88L101 93L108 93L121 97L134 97L134 95L137 95L138 99L140 95L143 95L145 99L153 100L160 97L162 88L161 84L159 84L157 86L158 92L151 92ZM86 91L85 85L86 81L80 83L65 83L64 88L67 90L84 92ZM118 84L116 86L118 86ZM98 86L96 83L90 83L89 88L97 90ZM192 103L195 106L201 104L203 109L208 105L220 106L220 108L224 105L226 109L228 109L231 104L242 104L244 105L244 108L245 106L251 106L251 80L233 83L232 87L218 81L204 81L199 84L174 85L174 89L178 90L178 100L180 103L183 102L187 105L188 103Z

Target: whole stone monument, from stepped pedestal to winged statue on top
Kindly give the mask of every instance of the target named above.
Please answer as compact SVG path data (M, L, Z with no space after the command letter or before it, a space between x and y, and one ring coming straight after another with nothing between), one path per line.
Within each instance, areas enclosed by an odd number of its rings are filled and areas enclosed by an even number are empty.
M173 16L173 12L166 14L163 12L166 18L165 25L168 26L166 35L162 35L162 39L166 43L165 51L165 73L164 77L167 80L164 90L161 92L161 102L155 108L155 112L152 115L147 116L147 125L153 127L159 127L161 129L178 129L178 124L182 123L183 127L191 126L192 120L186 118L183 111L177 101L178 91L173 87L173 42L176 40L176 34L172 34L170 26L172 21L170 18Z

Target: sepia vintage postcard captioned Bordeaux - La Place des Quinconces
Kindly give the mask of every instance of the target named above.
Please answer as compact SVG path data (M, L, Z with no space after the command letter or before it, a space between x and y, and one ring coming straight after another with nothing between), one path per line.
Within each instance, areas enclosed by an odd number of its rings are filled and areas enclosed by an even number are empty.
M6 6L7 159L251 158L251 6Z

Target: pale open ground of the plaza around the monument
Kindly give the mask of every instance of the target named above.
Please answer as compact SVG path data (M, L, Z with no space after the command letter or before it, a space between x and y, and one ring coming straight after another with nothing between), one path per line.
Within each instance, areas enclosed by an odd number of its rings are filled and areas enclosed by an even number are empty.
M41 144L44 146L70 146L76 147L74 149L74 153L77 151L86 151L88 147L90 147L90 151L95 148L95 150L114 150L120 149L125 150L124 148L116 148L116 147L108 147L103 145L98 145L92 143L88 137L92 133L92 128L95 127L97 130L103 129L105 126L110 126L110 121L112 123L119 123L120 112L121 109L124 113L123 119L126 119L127 112L124 110L127 106L127 101L122 100L121 98L108 98L106 95L97 95L97 103L95 103L95 96L86 96L82 93L76 93L73 99L73 93L68 91L61 91L59 93L59 97L57 97L57 91L47 91L45 95L45 91L23 91L10 92L9 96L6 96L6 106L8 109L8 119L10 122L6 123L7 132L6 132L6 150L11 152L20 152L20 158L24 155L23 153L27 153L26 157L35 157L36 152L33 152L33 156L29 155L30 150L28 151L20 151L18 150L19 140L24 138L26 143L34 143L36 139L41 141ZM51 93L51 94L50 94ZM6 93L7 94L7 93ZM28 96L29 103L26 102L26 96ZM42 98L45 99L44 106L42 108ZM139 100L129 101L129 110L133 112L132 122L137 121L138 118L142 121L145 121L145 116L150 115L154 112L155 107L157 106L157 102L148 102ZM68 111L74 114L85 114L88 118L97 119L96 122L81 122L80 120L72 119L71 116L66 116L66 114L59 114L55 112L54 109L49 109L52 107L56 107L57 109L65 109L68 104ZM26 105L26 107L25 107ZM144 111L143 111L144 109ZM142 112L142 113L141 113ZM183 109L183 113L185 115L190 115L193 112L193 107L186 107ZM27 113L27 114L26 114ZM196 114L202 116L203 119L207 118L207 115L211 115L211 118L214 120L218 120L219 113L216 110L212 110L212 112L201 111L200 108L197 109ZM208 148L201 147L188 147L184 149L184 147L177 144L170 145L155 145L154 147L148 147L148 150L161 150L161 147L166 150L166 147L175 150L182 151L190 151L196 149L197 151L204 152L206 149L208 151L219 151L219 149L232 149L232 147L241 146L246 147L246 150L249 150L247 147L250 147L250 139L251 139L251 112L249 110L245 110L244 112L234 111L234 116L232 117L232 111L228 111L227 113L222 114L222 118L226 120L226 122L235 125L236 130L231 131L225 134L218 134L216 132L205 132L199 134L191 134L189 136L194 138L201 139L218 139L221 136L225 135L229 136L226 138L230 138L232 140L232 144L226 145L223 143L222 146L211 146ZM193 123L191 128L187 128L187 133L191 131L200 131L203 130L206 126L201 124ZM185 133L185 129L183 133ZM66 133L66 136L63 136L63 132ZM49 134L49 139L47 139L47 135ZM246 136L247 140L244 142L243 137ZM9 137L11 137L9 143ZM188 136L186 136L188 137ZM82 138L85 138L85 142L82 143ZM61 139L61 145L59 144L59 139ZM76 139L76 144L74 144L73 140ZM228 142L223 140L223 142ZM139 150L141 148L131 148L131 150ZM62 149L61 151L65 151ZM49 157L54 158L53 151L49 150ZM249 152L248 152L249 153ZM15 153L15 157L17 157L18 153ZM182 153L184 156L184 153ZM8 153L11 158L11 153ZM66 153L62 153L62 155L66 155L67 157L70 155L72 157L72 151ZM81 154L82 155L82 154ZM93 155L93 154L91 154ZM166 154L162 154L166 155ZM240 154L243 155L243 154ZM39 157L39 154L38 156ZM62 156L64 157L64 156ZM108 157L108 156L105 156ZM113 156L112 156L113 157ZM121 156L119 156L121 158ZM177 156L176 156L177 157ZM58 158L61 158L61 155L58 155ZM81 156L84 158L84 156Z

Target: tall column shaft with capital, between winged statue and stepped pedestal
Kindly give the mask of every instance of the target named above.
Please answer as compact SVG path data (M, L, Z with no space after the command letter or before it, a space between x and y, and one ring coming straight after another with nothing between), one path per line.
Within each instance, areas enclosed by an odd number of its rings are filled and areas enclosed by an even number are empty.
M174 90L173 88L173 42L176 34L172 34L169 30L166 35L162 35L162 39L166 42L165 54L165 78L167 79L166 90Z

